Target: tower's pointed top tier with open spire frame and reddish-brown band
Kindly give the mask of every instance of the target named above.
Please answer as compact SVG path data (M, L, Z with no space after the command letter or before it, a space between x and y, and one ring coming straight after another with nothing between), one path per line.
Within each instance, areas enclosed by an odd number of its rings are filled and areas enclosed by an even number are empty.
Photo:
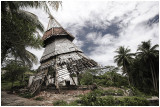
M42 37L43 41L51 37L58 37L58 36L64 36L64 35L66 35L66 37L69 40L71 41L74 40L74 36L68 33L53 16L49 16L49 18L50 20L48 23L47 31L44 33Z

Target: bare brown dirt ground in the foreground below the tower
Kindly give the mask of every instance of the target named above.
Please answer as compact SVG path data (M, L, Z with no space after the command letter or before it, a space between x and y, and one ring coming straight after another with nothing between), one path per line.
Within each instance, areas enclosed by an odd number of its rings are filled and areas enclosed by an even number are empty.
M64 100L72 102L77 100L80 94L86 94L90 90L66 90L61 94L55 94L55 91L42 91L34 98L22 98L16 94L7 94L7 92L1 92L1 105L2 106L53 106L53 102L58 100ZM36 97L42 97L43 101L35 100Z

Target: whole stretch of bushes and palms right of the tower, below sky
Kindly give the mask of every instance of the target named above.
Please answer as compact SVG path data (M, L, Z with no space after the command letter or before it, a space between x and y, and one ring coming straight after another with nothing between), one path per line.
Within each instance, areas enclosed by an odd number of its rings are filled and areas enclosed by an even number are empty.
M88 70L81 75L82 85L96 83L103 87L130 88L133 92L159 96L159 50L150 40L138 45L136 53L123 46L114 57L118 67ZM138 95L138 94L137 94Z

